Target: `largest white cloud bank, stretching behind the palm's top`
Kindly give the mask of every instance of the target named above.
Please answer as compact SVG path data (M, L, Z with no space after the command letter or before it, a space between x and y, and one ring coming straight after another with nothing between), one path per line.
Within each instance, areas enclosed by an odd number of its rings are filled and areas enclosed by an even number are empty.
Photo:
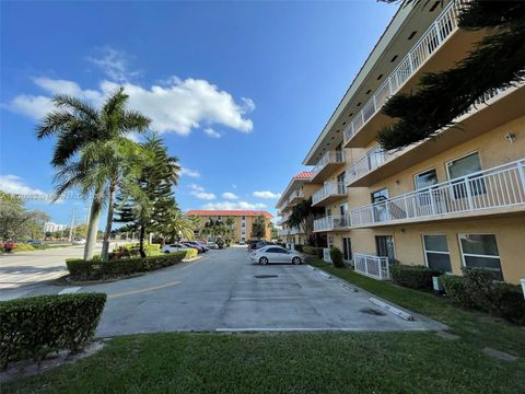
M104 80L98 90L83 90L78 83L67 80L37 78L35 84L49 95L71 94L98 106L105 96L120 84ZM131 82L121 83L129 94L129 108L138 109L151 118L151 129L159 132L175 132L187 136L192 129L222 125L241 132L250 132L253 121L245 115L255 107L248 99L242 104L206 80L172 78L167 84L142 88ZM252 103L252 104L249 104ZM52 109L50 96L21 94L8 105L13 112L40 119ZM217 132L215 130L213 130Z

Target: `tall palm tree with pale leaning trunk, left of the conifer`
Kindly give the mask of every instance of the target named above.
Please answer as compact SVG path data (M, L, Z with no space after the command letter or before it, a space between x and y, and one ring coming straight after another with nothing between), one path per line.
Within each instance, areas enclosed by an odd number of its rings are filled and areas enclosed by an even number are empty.
M84 259L93 257L98 228L98 217L104 202L105 186L101 177L83 176L72 171L86 171L86 164L93 164L95 158L84 158L83 162L73 162L75 157L82 157L83 150L92 143L112 143L117 138L125 137L130 131L143 132L150 119L139 112L126 109L128 95L124 88L112 93L100 109L89 103L69 95L56 95L52 100L55 109L47 114L36 127L38 139L57 137L51 165L58 173L67 175L70 182L62 183L57 188L56 199L73 188L80 188L84 196L92 195ZM96 149L90 148L90 152ZM98 157L100 155L95 155ZM58 174L58 178L62 175ZM107 179L106 179L107 181Z

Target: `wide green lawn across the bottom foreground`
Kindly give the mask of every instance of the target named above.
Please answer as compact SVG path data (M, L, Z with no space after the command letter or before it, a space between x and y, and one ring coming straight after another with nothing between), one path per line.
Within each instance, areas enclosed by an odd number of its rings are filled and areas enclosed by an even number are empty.
M523 393L524 371L431 333L153 334L2 393Z

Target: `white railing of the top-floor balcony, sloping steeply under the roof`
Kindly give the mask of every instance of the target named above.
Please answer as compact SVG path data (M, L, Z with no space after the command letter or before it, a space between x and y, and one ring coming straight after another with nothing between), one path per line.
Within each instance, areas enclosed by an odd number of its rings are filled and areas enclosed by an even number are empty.
M374 116L388 99L396 94L443 42L457 30L457 16L468 0L454 0L446 5L429 30L402 58L396 69L364 104L345 129L345 143L348 142Z

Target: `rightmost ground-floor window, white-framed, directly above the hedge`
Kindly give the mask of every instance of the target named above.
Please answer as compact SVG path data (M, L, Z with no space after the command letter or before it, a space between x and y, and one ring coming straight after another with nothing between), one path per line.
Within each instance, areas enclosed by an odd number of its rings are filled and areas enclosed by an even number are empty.
M500 254L494 234L459 234L463 264L468 268L485 268L503 280Z

